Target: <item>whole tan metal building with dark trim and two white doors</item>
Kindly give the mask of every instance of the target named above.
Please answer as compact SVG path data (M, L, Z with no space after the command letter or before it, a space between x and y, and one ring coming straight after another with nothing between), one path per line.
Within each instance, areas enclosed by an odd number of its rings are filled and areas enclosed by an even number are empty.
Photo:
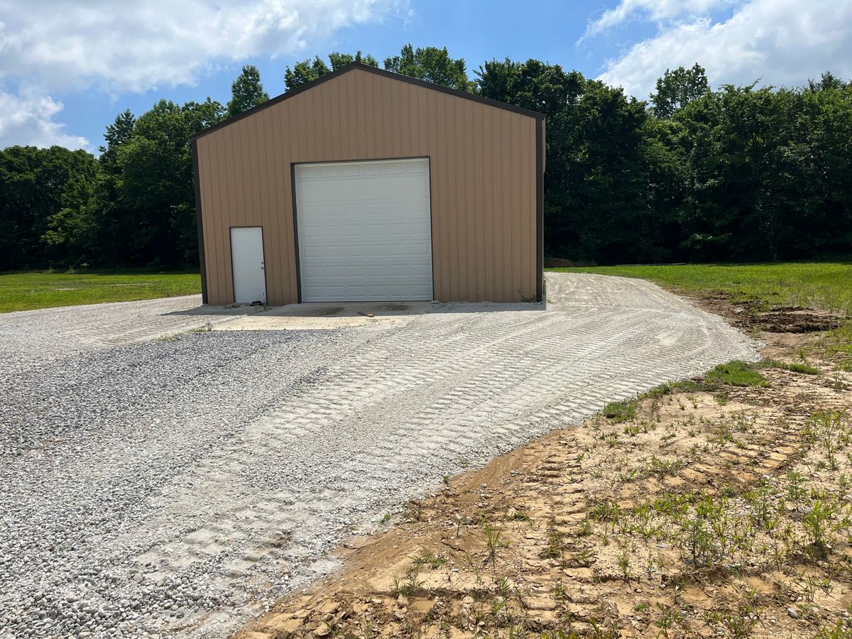
M541 113L353 63L192 148L204 302L541 299Z

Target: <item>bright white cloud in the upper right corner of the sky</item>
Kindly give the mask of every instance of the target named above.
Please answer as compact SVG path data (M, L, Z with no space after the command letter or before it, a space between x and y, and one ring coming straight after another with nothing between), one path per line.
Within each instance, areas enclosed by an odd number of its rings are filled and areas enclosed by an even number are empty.
M826 70L850 78L852 3L750 0L723 22L705 16L661 26L655 37L609 60L600 79L644 99L667 68L695 62L714 87L757 79L800 86Z

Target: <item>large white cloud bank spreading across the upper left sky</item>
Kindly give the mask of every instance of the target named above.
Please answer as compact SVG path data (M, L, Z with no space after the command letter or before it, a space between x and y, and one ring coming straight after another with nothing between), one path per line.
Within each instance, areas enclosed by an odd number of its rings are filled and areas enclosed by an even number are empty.
M0 148L64 144L50 95L194 83L217 65L295 54L408 0L0 0ZM27 95L3 90L25 84Z

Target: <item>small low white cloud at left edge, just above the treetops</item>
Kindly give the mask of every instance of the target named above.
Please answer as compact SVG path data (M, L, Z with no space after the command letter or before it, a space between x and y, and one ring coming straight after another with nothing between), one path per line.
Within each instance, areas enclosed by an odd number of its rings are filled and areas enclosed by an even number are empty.
M64 125L54 121L62 104L49 95L13 95L0 90L0 148L14 144L36 147L85 148L89 141L68 135Z

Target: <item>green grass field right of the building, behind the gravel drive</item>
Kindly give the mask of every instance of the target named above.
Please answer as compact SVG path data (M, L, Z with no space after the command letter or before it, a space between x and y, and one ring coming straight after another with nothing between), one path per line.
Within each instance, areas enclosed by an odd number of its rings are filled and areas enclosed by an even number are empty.
M721 291L735 302L759 300L770 306L821 308L852 317L852 263L687 264L549 268L566 273L600 273L648 279L687 293Z

